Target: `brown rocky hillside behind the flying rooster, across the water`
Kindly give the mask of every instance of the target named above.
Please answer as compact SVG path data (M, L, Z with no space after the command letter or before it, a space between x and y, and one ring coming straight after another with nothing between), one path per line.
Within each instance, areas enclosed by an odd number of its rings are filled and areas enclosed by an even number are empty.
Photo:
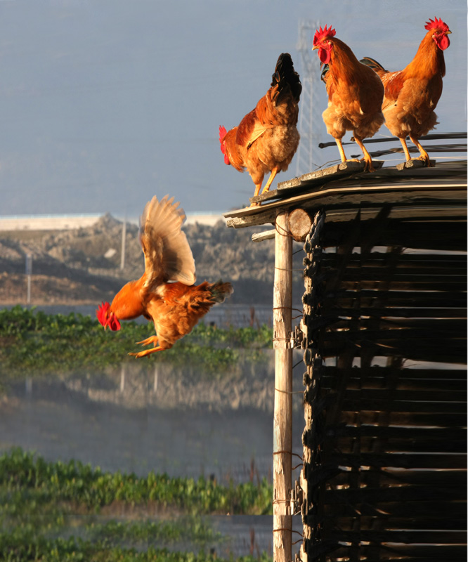
M233 303L271 304L274 242L254 243L252 233L263 228L234 230L223 221L184 228L193 251L197 280L233 282ZM138 228L126 225L125 266L120 269L122 223L105 215L77 230L18 230L0 233L0 303L25 303L25 259L32 256L32 303L95 303L112 299L128 280L143 273ZM295 287L304 291L301 264L294 271Z

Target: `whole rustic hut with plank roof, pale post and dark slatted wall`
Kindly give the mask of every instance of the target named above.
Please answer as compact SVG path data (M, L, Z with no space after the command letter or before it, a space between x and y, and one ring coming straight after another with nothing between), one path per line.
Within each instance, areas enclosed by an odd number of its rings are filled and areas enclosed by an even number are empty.
M278 184L228 226L273 224L273 554L466 559L467 162L349 163ZM292 240L304 244L292 327ZM292 348L304 353L303 465L291 476Z

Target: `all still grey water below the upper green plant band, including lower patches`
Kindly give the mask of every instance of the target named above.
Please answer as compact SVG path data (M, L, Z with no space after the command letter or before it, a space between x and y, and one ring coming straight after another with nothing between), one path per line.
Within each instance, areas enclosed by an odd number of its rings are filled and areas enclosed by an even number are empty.
M154 471L216 478L221 484L271 481L273 381L272 351L260 365L240 362L235 372L219 379L152 362L132 362L101 374L14 380L0 374L0 451L20 446L48 461L76 459L138 476ZM300 391L301 383L295 381L294 390ZM301 394L293 400L293 450L301 454ZM135 516L105 509L99 516L72 516L59 534L86 537L92 521L133 521ZM143 508L138 519L155 521L155 514ZM273 518L204 519L223 540L169 544L169 549L211 550L221 558L272 554ZM301 531L300 517L294 520Z

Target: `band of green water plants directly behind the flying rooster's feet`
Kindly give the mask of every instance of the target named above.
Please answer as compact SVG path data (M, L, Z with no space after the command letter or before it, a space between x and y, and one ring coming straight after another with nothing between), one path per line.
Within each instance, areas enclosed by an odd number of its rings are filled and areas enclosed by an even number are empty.
M89 316L48 315L15 306L0 311L0 362L8 374L102 370L135 361L127 353L139 351L135 342L150 336L153 329L152 323L122 322L119 332L110 332ZM204 372L219 374L238 362L240 350L246 350L251 361L261 360L262 349L271 347L271 338L266 326L219 329L200 324L174 348L155 353L150 361L202 365Z

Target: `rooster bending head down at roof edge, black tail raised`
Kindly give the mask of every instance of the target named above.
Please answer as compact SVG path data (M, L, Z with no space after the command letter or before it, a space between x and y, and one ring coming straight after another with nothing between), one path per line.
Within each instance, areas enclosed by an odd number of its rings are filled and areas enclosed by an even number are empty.
M266 172L270 177L262 193L269 190L279 171L286 171L299 145L297 117L302 85L294 71L290 53L276 63L271 87L240 124L226 132L219 127L224 162L236 170L247 169L259 195Z

